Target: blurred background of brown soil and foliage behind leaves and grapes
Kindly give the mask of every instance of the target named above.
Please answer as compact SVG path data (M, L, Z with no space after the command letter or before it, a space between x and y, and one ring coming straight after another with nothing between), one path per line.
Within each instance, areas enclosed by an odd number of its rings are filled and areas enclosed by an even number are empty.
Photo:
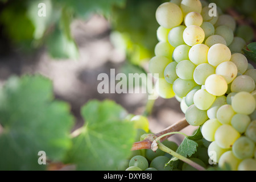
M151 131L158 133L184 118L175 98L158 98L152 103L147 94L99 94L97 77L110 75L113 68L116 74L147 72L158 43L155 11L163 2L0 0L0 85L13 75L40 73L53 81L56 98L71 105L77 118L75 129L84 123L82 105L92 99L110 99L129 113L146 111ZM236 34L247 43L254 40L248 35L254 34L256 1L209 2L224 13L235 13L242 22ZM40 16L42 13L46 16ZM195 129L189 126L184 133L192 134ZM181 142L182 136L174 137Z

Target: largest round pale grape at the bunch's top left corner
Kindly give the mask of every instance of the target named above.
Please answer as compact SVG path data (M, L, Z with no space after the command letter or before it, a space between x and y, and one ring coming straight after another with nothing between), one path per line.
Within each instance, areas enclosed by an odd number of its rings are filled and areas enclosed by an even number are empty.
M155 16L156 21L164 28L173 28L183 22L183 13L180 7L171 2L162 3L156 9Z

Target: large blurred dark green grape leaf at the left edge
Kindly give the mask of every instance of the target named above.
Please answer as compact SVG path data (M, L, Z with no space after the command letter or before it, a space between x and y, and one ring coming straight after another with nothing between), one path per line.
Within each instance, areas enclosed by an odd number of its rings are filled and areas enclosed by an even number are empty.
M53 100L52 82L43 76L11 77L0 90L0 169L43 170L38 152L61 161L71 147L69 105Z

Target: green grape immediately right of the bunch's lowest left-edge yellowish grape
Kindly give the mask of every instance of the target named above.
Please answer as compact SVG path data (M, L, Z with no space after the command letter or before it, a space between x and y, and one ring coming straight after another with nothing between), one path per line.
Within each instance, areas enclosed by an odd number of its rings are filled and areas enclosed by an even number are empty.
M194 80L183 80L181 78L177 78L172 85L172 89L174 89L174 93L179 97L185 97L187 94L197 86Z

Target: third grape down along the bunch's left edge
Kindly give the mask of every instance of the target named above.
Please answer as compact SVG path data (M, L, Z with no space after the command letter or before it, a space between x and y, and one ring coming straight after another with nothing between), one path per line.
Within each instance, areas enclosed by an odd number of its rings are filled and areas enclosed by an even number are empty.
M172 53L174 52L174 47L172 47L168 42L159 42L155 46L156 56L165 56L172 60Z

